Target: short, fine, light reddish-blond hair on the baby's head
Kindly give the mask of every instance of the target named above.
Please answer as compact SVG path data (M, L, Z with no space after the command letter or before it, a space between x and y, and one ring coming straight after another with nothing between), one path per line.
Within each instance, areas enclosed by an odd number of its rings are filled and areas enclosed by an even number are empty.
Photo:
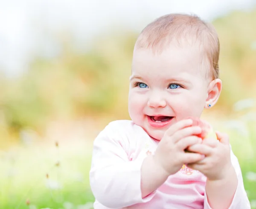
M167 14L159 17L143 29L134 50L151 48L154 52L161 53L171 42L175 41L179 44L182 39L199 43L201 52L207 58L207 65L210 68L207 74L212 79L218 78L220 51L218 34L213 25L195 15ZM205 59L202 62L204 61Z

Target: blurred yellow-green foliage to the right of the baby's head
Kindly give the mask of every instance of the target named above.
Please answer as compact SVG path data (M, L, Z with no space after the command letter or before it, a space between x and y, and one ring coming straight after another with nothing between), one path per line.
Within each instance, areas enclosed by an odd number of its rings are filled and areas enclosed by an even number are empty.
M219 34L220 76L223 91L218 107L230 107L236 101L255 97L256 89L256 9L236 11L213 22Z

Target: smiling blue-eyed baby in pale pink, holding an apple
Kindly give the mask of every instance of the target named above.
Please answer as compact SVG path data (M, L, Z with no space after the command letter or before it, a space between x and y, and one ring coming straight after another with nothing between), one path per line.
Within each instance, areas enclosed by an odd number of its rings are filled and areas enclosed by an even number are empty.
M94 209L250 209L229 138L197 135L221 93L212 25L169 14L147 25L134 47L128 110L94 141ZM184 150L188 150L186 152Z

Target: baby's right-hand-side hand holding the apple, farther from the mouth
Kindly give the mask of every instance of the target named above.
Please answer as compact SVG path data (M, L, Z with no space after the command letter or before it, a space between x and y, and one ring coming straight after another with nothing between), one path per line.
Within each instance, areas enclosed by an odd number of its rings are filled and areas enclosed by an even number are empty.
M216 134L218 140L206 138L202 144L189 147L189 151L205 155L205 158L188 164L188 167L199 170L212 181L227 179L230 171L233 172L229 137L223 133L216 132Z

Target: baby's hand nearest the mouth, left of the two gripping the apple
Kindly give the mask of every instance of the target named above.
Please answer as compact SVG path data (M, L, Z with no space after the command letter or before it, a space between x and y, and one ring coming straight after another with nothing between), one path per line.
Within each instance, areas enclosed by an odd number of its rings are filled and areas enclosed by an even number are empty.
M201 128L191 126L192 120L186 119L173 124L164 134L153 156L154 163L167 175L175 174L183 164L195 163L202 159L198 153L185 153L184 150L202 139L193 136L201 133Z

